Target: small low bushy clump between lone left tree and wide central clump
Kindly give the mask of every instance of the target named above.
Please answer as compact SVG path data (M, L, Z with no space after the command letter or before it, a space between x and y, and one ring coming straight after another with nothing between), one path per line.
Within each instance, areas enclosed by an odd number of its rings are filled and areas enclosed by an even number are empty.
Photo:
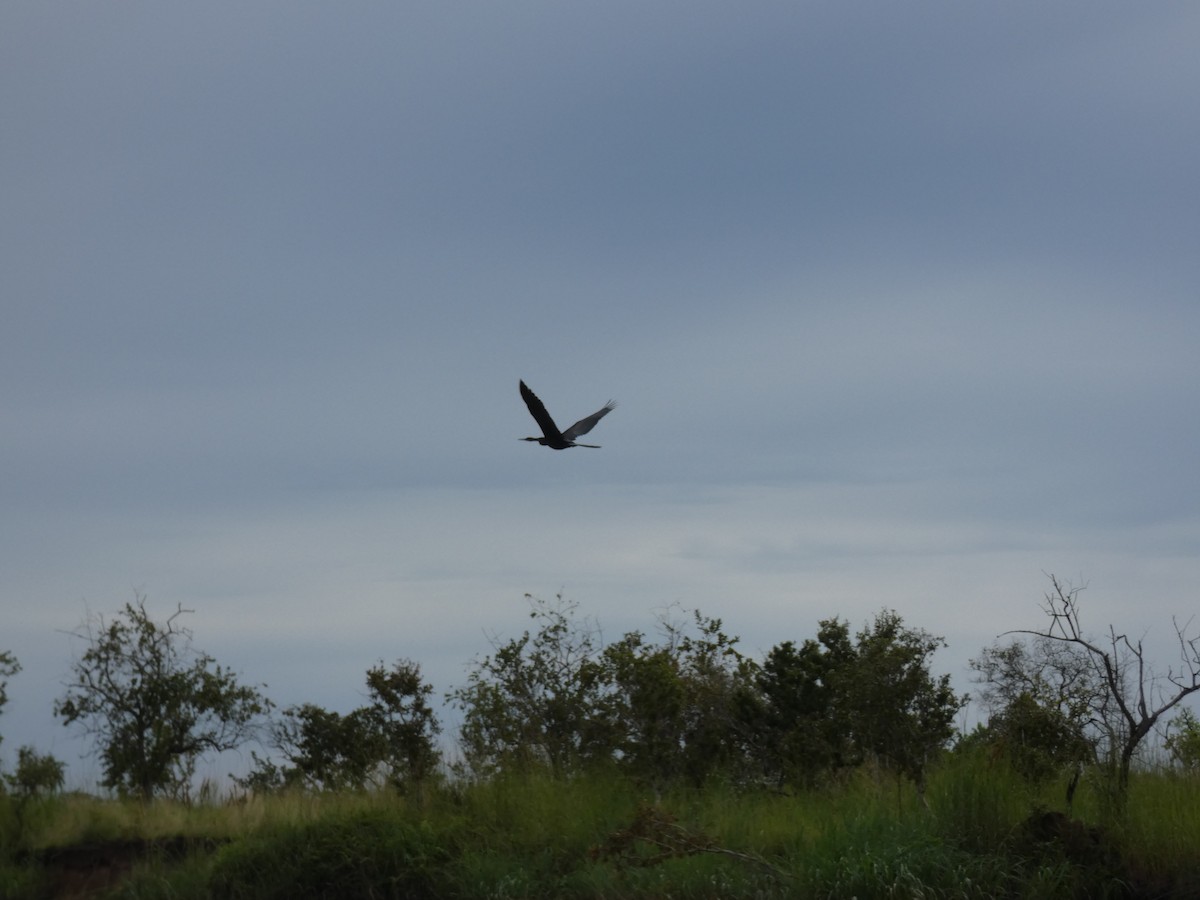
M312 703L289 707L274 727L274 743L288 764L252 754L257 766L239 784L252 791L302 786L324 791L404 787L436 769L433 739L440 730L428 704L432 686L420 667L398 660L367 670L371 702L346 715Z

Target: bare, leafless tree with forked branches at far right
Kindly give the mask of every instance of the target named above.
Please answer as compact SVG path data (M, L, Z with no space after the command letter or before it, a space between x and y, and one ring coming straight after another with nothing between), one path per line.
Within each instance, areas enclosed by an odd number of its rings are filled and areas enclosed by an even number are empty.
M1129 786L1129 767L1142 739L1154 725L1184 697L1200 691L1200 637L1188 637L1188 624L1171 619L1180 644L1180 662L1159 676L1146 661L1141 638L1117 634L1109 625L1108 637L1097 641L1085 635L1079 616L1079 593L1069 583L1050 576L1051 589L1043 610L1050 617L1044 631L1019 629L1008 634L1033 635L1082 650L1105 689L1102 718L1116 763L1117 797Z

